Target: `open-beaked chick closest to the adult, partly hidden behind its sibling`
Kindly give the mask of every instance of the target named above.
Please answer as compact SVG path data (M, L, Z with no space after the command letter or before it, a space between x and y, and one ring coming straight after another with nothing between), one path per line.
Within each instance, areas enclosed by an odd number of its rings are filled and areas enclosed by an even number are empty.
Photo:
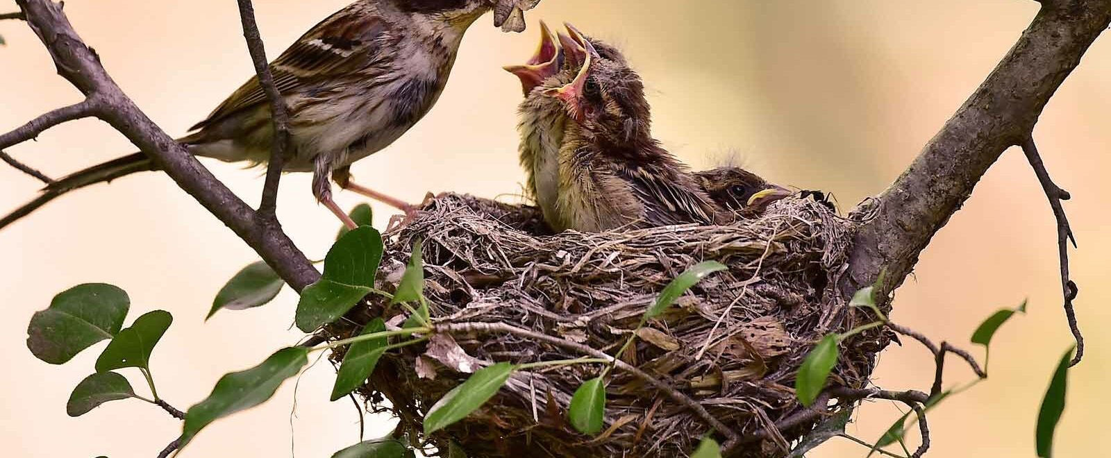
M522 66L506 66L504 69L521 80L524 100L518 108L521 135L519 148L521 167L524 168L527 192L540 208L544 220L553 229L560 225L556 202L559 197L559 150L563 143L567 109L558 99L544 94L544 90L559 88L574 80L585 58L585 48L579 44L589 40L602 56L623 61L621 53L599 40L579 36L578 40L562 32L558 40L543 22L540 44L536 53ZM568 26L571 34L578 34Z

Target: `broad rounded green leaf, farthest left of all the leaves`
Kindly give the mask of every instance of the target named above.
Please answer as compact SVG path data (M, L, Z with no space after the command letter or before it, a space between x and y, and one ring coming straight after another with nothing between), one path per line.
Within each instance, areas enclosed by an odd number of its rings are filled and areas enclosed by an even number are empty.
M52 365L69 361L91 345L111 339L123 326L131 299L104 283L79 285L54 296L31 317L27 348Z

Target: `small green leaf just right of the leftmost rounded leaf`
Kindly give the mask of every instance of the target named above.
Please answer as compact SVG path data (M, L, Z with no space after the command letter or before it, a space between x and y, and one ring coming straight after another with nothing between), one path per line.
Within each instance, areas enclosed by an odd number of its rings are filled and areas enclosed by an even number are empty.
M97 371L107 372L126 367L150 369L150 354L170 328L173 317L166 310L154 310L136 318L130 328L121 330L97 358Z

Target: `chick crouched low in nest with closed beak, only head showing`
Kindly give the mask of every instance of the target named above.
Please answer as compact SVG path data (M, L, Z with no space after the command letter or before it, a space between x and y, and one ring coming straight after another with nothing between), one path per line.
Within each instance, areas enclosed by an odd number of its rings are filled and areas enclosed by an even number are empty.
M742 218L759 217L771 202L794 195L790 189L770 183L740 167L698 171L694 179L710 199Z

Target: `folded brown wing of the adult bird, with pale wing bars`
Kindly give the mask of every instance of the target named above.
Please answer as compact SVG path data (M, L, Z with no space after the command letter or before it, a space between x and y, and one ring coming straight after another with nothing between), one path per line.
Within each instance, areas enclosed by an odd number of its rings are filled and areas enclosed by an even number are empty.
M372 11L354 3L328 17L270 62L278 92L298 92L314 81L348 73L381 59L381 44L391 39L388 24ZM201 129L246 108L267 102L267 94L252 77L203 121L190 128Z

